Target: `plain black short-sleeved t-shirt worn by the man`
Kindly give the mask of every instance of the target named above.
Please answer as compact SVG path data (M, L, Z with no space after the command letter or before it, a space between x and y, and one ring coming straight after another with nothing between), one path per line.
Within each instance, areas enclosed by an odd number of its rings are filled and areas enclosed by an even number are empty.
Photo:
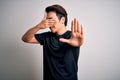
M44 80L78 80L79 48L59 41L59 38L69 39L71 31L63 35L52 32L35 34L43 45L43 75Z

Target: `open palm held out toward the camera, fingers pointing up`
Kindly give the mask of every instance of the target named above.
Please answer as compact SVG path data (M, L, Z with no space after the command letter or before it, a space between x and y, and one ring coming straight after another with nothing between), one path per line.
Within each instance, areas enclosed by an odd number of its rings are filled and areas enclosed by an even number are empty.
M78 20L75 18L71 23L72 34L69 39L60 38L59 40L64 43L68 43L72 46L81 46L83 44L84 34L83 27L79 24Z

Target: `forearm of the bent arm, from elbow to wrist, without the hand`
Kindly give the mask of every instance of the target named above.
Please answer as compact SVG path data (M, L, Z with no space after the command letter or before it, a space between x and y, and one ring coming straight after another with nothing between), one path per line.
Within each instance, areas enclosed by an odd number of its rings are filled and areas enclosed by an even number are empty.
M40 30L40 28L38 27L38 25L35 26L35 27L33 27L33 28L30 28L30 29L23 35L22 40L23 40L24 42L29 42L29 41L34 37L35 33L36 33L37 31L39 31L39 30Z

